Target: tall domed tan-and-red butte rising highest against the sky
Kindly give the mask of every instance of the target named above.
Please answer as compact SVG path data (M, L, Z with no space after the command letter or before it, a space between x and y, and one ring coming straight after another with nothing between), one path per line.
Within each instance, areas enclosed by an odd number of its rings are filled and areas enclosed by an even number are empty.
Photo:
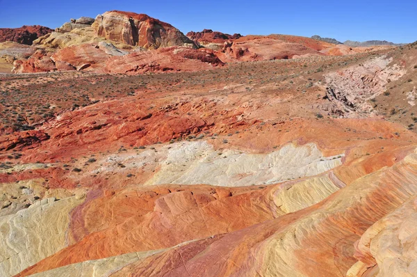
M193 45L193 41L174 26L143 14L113 10L97 15L92 27L97 35L127 45L150 49Z

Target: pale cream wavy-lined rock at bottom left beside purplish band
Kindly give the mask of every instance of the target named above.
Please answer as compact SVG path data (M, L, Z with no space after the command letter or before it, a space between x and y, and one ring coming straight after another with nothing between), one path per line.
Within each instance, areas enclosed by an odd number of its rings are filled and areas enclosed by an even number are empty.
M0 218L1 276L13 276L65 247L70 210L81 200L38 201L28 209Z

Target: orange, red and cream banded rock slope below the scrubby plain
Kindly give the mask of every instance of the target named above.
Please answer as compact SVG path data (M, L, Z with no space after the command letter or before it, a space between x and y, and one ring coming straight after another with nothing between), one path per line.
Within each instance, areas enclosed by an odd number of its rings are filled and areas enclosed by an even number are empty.
M22 157L1 180L40 199L1 218L2 274L345 276L375 267L355 246L416 192L416 134L381 119L279 121L275 97L196 89L177 102L163 91L3 136L3 161ZM256 113L244 108L249 99ZM16 242L32 248L17 258Z

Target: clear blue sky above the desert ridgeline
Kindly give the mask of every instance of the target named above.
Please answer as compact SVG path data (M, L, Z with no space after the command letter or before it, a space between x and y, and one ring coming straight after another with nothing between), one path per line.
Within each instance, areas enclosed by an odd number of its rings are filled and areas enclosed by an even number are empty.
M417 40L417 0L0 0L0 28L39 24L56 28L70 18L107 10L146 13L183 33L321 35L345 40Z

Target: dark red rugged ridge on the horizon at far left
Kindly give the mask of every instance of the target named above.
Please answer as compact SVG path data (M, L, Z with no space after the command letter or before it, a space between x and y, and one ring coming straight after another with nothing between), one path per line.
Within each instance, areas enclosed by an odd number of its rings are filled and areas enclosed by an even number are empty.
M0 42L14 41L23 45L32 45L33 40L36 40L47 33L51 33L52 31L54 30L40 25L24 25L14 29L3 28L0 29Z

